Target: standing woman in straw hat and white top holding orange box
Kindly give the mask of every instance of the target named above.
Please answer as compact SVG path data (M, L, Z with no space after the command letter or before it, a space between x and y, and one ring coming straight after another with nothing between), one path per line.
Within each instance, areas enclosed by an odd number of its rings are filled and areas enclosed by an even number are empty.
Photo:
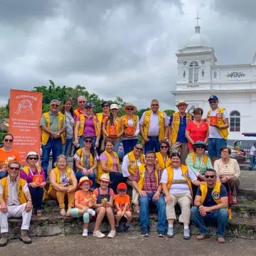
M127 103L123 107L123 110L126 114L121 117L122 129L124 129L122 144L124 146L124 155L126 155L134 149L134 146L138 142L139 117L134 114L137 111L137 107L132 105L132 103Z

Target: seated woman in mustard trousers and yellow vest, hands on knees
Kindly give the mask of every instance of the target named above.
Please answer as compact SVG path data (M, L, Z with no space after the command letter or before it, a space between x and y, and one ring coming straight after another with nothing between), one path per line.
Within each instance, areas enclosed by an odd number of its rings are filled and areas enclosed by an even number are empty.
M70 209L74 207L75 190L78 181L75 178L73 169L68 167L65 155L61 154L57 158L57 167L50 171L50 186L48 196L57 200L60 208L60 215L69 216ZM68 211L65 212L65 197L68 197Z

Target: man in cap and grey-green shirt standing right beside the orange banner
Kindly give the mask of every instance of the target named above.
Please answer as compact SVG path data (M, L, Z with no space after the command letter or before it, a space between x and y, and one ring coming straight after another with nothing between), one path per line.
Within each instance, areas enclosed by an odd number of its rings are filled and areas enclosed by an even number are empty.
M63 113L58 112L60 102L52 100L50 102L50 111L43 113L40 121L41 127L41 145L42 145L42 163L41 166L48 176L48 164L50 151L53 154L52 168L54 168L57 157L61 154L62 144L65 144L65 117Z

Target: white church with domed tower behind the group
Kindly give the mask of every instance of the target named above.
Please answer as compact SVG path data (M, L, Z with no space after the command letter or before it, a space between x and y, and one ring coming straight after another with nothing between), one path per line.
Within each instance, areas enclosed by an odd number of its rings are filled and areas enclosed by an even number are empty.
M216 65L215 50L207 36L196 26L188 43L176 53L178 75L176 102L186 100L188 111L203 109L206 116L208 98L216 95L219 106L230 116L229 140L250 140L243 132L256 132L256 53L251 64Z

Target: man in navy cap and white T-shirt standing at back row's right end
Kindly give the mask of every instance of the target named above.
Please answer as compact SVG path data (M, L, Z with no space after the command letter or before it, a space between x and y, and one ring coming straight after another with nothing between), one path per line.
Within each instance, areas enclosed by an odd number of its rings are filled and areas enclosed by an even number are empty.
M209 124L208 155L214 163L220 159L220 149L227 146L228 139L228 112L218 107L218 97L212 95L208 99L211 110L207 113Z

